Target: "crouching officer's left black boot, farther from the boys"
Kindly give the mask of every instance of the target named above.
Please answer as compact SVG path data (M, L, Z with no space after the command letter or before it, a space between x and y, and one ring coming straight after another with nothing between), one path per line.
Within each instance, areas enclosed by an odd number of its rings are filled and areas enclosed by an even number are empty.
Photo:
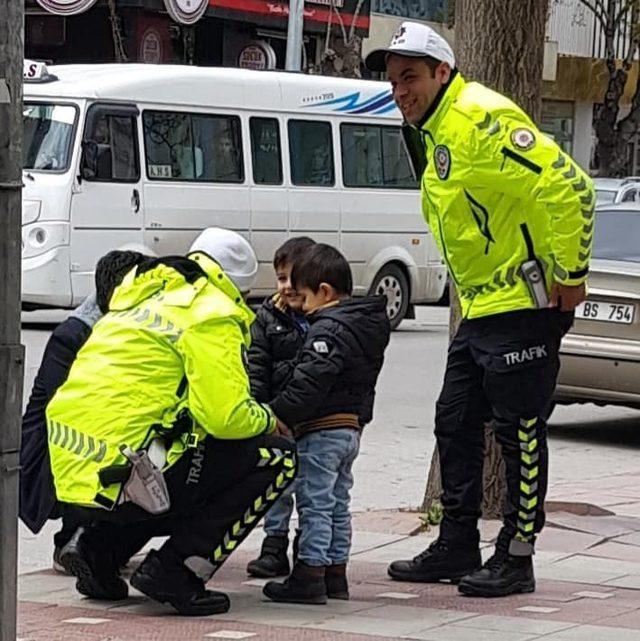
M120 577L115 553L98 528L78 528L60 550L60 563L77 577L76 590L91 599L120 601L129 588Z

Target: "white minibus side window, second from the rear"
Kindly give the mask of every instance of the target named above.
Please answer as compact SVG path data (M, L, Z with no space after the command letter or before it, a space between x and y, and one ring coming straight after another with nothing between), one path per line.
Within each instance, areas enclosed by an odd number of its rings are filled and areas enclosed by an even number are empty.
M335 184L331 123L290 120L289 154L294 185L331 187Z

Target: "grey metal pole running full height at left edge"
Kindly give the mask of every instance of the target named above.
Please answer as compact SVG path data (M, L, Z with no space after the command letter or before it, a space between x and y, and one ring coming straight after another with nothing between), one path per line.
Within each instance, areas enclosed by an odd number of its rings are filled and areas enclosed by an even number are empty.
M0 641L16 639L23 8L0 0Z

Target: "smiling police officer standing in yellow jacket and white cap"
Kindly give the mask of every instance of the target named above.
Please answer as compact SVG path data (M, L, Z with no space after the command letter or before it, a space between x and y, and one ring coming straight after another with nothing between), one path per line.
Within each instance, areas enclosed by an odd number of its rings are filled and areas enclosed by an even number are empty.
M405 22L369 54L424 140L425 219L460 297L436 406L444 518L400 581L462 579L463 594L535 589L531 555L544 525L546 421L560 339L585 298L594 193L590 179L513 102L467 83L447 42ZM493 418L507 473L504 526L481 565L483 423Z

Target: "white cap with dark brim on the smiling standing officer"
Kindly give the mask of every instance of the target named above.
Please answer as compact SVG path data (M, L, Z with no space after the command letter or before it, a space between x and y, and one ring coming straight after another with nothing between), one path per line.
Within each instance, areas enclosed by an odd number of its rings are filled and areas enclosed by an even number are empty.
M389 54L424 58L430 56L446 62L453 69L456 58L449 43L426 24L403 22L391 39L391 44L383 49L374 49L365 59L365 65L371 71L385 71Z

